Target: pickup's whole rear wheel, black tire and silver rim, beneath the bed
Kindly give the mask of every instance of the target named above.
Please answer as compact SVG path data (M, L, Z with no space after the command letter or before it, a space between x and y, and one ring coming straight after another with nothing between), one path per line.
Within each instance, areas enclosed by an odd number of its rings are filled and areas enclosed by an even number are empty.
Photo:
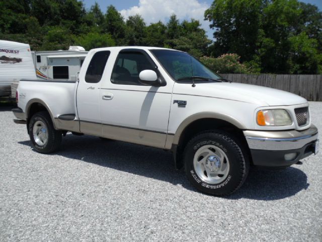
M62 140L61 131L54 129L49 114L44 111L31 117L28 132L34 149L40 153L57 150Z

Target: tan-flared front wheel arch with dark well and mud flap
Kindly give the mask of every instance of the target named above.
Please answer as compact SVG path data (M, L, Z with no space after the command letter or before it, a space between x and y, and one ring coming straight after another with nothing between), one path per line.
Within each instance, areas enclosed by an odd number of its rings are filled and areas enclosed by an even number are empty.
M188 141L200 132L215 129L232 134L240 141L241 145L244 145L249 150L243 134L243 130L246 130L246 127L236 118L227 114L213 112L193 114L180 124L173 137L171 150L174 154L177 169L183 166L182 152Z

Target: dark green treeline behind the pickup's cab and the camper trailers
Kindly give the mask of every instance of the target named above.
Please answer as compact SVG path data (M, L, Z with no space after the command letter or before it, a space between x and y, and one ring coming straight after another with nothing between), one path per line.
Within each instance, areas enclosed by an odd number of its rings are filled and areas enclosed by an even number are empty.
M0 38L27 42L33 50L89 50L113 45L172 47L204 55L211 43L196 20L146 25L139 15L124 20L110 5L105 13L95 3L88 11L80 0L0 0Z

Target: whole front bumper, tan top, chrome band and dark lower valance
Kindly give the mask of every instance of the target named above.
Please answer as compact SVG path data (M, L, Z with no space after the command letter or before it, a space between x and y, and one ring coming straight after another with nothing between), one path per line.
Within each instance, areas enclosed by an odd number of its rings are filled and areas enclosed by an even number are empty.
M244 131L254 165L281 167L295 164L315 152L317 128L303 131ZM293 158L285 155L293 153Z

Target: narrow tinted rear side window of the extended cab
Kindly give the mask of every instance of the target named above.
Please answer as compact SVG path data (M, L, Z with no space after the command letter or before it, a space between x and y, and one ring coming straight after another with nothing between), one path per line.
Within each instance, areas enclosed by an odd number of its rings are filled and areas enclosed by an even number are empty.
M90 65L86 71L86 82L98 83L101 81L110 53L110 51L99 51L93 55Z

